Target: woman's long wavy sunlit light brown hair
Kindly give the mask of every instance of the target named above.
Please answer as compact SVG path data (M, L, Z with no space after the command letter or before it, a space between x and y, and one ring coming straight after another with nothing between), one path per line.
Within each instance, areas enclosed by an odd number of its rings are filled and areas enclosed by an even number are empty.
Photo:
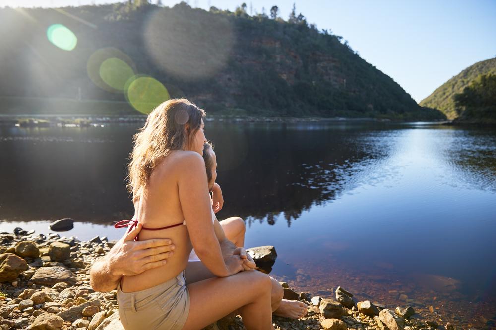
M138 197L161 159L172 150L188 150L200 129L205 111L186 99L171 99L158 105L133 137L128 165L127 190ZM186 130L186 124L188 129Z

